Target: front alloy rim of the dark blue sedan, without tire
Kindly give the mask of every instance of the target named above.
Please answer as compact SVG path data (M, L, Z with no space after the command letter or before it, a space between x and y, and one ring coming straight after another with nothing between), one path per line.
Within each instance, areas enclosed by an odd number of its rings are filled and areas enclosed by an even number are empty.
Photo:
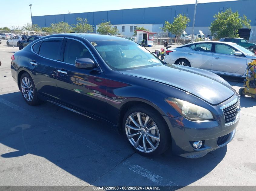
M129 115L125 122L126 136L138 151L150 153L155 151L160 142L160 133L154 120L145 113L136 112Z

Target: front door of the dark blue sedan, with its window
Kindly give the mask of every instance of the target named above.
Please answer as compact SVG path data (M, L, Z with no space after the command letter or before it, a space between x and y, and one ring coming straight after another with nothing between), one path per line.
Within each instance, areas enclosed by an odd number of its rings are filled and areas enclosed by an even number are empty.
M90 58L87 46L79 40L66 39L63 62L57 65L57 94L59 100L71 107L105 118L107 78L100 68L79 69L78 58Z

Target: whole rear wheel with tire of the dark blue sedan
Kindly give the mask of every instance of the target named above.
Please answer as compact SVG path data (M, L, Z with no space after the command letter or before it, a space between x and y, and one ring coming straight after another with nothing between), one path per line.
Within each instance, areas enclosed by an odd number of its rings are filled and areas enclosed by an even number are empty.
M20 78L20 88L23 99L29 105L38 105L39 98L35 89L35 83L28 73L22 74Z

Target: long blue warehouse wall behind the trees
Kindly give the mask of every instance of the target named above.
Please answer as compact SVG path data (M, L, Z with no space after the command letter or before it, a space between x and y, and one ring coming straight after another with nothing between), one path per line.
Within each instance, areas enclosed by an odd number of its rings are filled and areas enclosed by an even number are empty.
M226 8L231 8L233 11L238 10L240 15L245 14L251 20L251 26L255 26L255 11L248 11L248 8L252 6L256 6L256 0L199 3L197 5L195 27L210 26L214 20L213 15ZM32 17L32 23L38 24L40 27L48 27L51 23L58 23L60 21L76 24L76 18L81 17L87 18L89 24L94 27L101 23L102 20L111 21L112 24L164 24L165 21L173 22L173 18L178 14L188 15L191 20L188 26L192 26L194 4L35 16Z

